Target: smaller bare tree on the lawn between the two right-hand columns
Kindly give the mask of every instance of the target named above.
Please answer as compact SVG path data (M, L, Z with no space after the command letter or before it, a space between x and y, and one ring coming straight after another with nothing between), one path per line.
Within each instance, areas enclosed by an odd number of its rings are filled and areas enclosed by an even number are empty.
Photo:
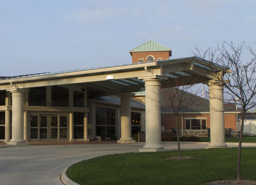
M170 109L176 116L176 132L178 141L178 152L180 153L180 136L179 136L179 116L188 112L192 106L199 105L200 102L195 98L199 89L193 88L194 84L198 83L197 77L188 78L186 76L176 78L172 82L172 87L169 84L163 84L161 97L162 108ZM196 101L197 100L197 101Z

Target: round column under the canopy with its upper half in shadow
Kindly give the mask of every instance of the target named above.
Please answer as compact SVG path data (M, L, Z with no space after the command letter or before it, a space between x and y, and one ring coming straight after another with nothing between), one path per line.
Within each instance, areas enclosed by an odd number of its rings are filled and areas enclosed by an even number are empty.
M134 143L131 127L131 98L134 94L117 94L121 99L121 138L117 143Z

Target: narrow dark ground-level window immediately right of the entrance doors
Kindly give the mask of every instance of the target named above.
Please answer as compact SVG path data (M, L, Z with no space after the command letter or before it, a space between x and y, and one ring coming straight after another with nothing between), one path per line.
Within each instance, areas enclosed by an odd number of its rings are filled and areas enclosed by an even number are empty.
M74 139L84 138L84 113L74 112Z

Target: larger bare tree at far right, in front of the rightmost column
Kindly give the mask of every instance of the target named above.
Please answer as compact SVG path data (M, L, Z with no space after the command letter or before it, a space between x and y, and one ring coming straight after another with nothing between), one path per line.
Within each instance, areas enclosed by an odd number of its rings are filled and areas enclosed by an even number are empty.
M249 61L245 61L243 51L251 55ZM256 55L252 47L241 42L237 47L230 41L223 41L217 48L208 48L205 51L196 48L195 56L202 59L202 63L210 68L216 78L216 85L224 87L224 103L233 103L240 107L242 112L242 124L240 129L237 179L241 179L241 147L244 130L245 112L256 106ZM220 70L221 69L221 70ZM201 73L203 71L200 71ZM218 97L215 97L218 98Z

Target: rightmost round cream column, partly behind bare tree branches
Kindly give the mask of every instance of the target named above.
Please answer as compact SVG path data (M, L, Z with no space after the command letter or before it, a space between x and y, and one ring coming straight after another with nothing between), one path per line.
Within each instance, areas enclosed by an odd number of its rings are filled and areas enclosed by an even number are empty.
M211 143L207 148L227 147L224 130L223 87L209 81Z

